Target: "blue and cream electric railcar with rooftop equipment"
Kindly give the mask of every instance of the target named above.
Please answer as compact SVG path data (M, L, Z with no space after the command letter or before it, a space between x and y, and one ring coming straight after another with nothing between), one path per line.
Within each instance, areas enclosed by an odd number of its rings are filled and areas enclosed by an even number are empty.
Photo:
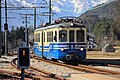
M34 31L34 54L46 59L86 59L86 27L77 18L62 18Z

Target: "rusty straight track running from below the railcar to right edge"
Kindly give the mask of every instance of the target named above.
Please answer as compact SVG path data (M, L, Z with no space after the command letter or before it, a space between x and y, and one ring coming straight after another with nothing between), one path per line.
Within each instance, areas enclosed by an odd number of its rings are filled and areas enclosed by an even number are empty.
M33 58L37 59L37 60L45 61L45 62L48 62L48 63L69 67L69 68L72 68L72 69L75 69L75 70L89 72L89 73L98 73L98 74L105 74L105 75L108 75L108 74L109 75L113 75L113 74L114 75L120 75L120 72L117 72L117 71L95 68L95 67L87 66L87 65L81 65L80 64L79 66L72 66L72 65L58 63L58 62L54 62L54 61L50 61L50 60L44 60L44 59L41 59L41 58L38 58L38 57L33 57Z

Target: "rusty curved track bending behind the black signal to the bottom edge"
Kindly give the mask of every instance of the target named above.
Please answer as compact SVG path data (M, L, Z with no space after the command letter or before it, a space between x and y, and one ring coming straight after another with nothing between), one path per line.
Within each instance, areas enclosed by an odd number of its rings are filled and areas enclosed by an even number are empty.
M16 60L17 60L17 58L12 61L12 65L14 67L16 67L17 69L19 69L16 65ZM51 80L51 79L68 80L68 79L62 78L58 75L52 74L50 72L35 68L33 66L30 66L30 69L25 70L25 73L27 74L26 76L32 78L33 80Z

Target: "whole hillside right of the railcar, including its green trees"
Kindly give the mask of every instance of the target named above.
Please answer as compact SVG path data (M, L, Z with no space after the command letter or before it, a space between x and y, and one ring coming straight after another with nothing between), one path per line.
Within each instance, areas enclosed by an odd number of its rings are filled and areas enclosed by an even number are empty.
M105 38L108 43L115 44L114 41L120 40L120 0L102 5L85 12L79 18L87 26L88 32L94 32L98 44L103 44Z

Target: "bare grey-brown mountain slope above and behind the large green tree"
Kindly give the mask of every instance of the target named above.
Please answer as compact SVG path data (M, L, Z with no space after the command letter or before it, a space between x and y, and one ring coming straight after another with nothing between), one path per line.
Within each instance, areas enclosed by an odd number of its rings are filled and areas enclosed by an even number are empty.
M83 23L88 27L89 32L93 32L95 24L97 24L102 18L113 19L114 21L120 20L120 0L110 2L104 6L94 8L86 11L79 16ZM118 22L120 23L120 22Z

